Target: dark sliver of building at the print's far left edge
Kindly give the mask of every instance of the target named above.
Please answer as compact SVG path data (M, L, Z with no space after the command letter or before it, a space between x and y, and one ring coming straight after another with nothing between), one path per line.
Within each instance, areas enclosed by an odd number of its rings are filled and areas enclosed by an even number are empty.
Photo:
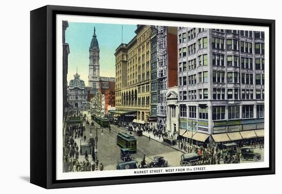
M65 118L65 108L67 107L67 90L68 90L68 82L67 82L67 75L68 75L68 55L70 53L69 44L66 43L66 29L69 27L68 21L63 21L63 115Z

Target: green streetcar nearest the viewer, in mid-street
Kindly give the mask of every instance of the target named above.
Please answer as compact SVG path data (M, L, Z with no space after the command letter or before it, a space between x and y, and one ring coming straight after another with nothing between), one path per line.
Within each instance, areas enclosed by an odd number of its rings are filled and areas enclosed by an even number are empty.
M120 132L117 134L116 140L117 140L117 145L120 148L128 148L130 152L136 153L137 140L133 135Z

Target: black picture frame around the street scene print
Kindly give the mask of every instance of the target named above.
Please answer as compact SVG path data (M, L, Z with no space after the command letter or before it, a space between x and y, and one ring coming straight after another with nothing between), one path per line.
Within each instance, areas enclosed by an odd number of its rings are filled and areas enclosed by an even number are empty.
M55 179L56 156L56 14L138 18L147 20L218 23L269 27L270 145L269 168L153 174L93 179ZM275 20L160 13L84 7L45 6L30 12L30 182L44 188L81 187L190 179L254 176L275 173Z

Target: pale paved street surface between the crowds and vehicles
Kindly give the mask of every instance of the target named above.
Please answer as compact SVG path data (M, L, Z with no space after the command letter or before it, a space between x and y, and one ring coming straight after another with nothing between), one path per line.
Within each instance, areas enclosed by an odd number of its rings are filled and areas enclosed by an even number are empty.
M90 114L87 111L84 111L83 114L86 114L88 117L88 121L91 123L91 117ZM95 123L95 125L97 125ZM84 122L84 126L86 126L86 122ZM96 137L96 127L93 126L86 126L86 130L84 131L84 134L86 135L86 141L89 140L89 138ZM103 133L102 133L103 130ZM116 169L116 165L119 162L122 162L120 160L120 147L116 145L117 141L117 133L118 132L127 132L126 128L124 127L117 127L115 125L111 125L111 132L108 128L98 128L97 129L97 135L98 135L98 144L97 144L97 150L98 150L98 161L99 164L102 163L104 165L104 170L114 170ZM134 133L133 133L134 134ZM138 164L141 163L144 154L146 155L146 162L150 163L153 160L154 156L163 156L165 160L168 160L169 166L179 166L180 156L184 153L182 150L178 150L177 145L175 146L168 146L162 143L162 138L159 140L158 138L153 138L153 135L151 136L151 140L148 139L148 134L144 133L145 135L138 137L134 134L134 136L137 139L137 152L132 154L132 157L138 162ZM80 139L75 139L77 142L79 149L80 149ZM81 141L84 141L82 139ZM261 160L256 161L264 161L264 149L255 148L255 152L258 152L261 154ZM85 156L79 156L79 161L84 161ZM89 161L91 164L93 164L91 154L89 154ZM252 160L245 160L241 161L241 163L248 163L253 162ZM223 161L220 163L223 164Z

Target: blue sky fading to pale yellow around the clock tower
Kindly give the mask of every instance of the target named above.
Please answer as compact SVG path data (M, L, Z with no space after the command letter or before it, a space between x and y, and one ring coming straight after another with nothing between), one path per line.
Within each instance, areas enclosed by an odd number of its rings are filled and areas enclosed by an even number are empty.
M100 49L100 76L115 77L115 49L122 43L129 43L135 36L136 25L94 24L69 22L66 43L69 44L68 82L76 72L88 85L89 46L94 26Z

